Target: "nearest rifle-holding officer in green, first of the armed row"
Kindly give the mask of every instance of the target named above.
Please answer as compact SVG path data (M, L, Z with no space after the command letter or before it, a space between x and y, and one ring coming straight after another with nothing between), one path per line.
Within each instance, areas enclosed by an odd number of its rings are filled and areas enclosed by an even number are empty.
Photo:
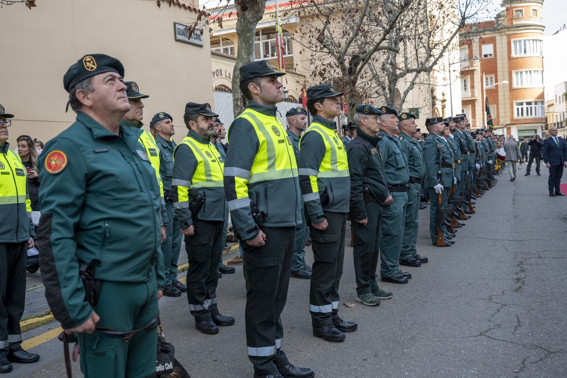
M445 133L445 124L442 117L433 117L425 120L425 125L430 133L424 142L424 160L425 160L425 187L427 188L431 207L429 212L429 234L433 245L437 245L437 230L435 229L435 217L437 215L437 207L443 207L447 202L449 189L454 185L455 175L453 172L453 160L451 157L450 147L443 140L442 135ZM439 171L442 172L441 178ZM442 203L438 202L438 194L442 193ZM446 233L445 225L441 224L443 235ZM445 246L450 246L453 241L445 241Z

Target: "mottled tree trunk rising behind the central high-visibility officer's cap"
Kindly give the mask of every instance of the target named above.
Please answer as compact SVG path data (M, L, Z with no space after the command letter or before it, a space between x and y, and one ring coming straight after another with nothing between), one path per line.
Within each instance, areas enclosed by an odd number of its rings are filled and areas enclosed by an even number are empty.
M240 66L254 61L254 36L256 24L264 16L265 0L236 0L236 34L238 48L236 49L236 64L232 71L232 108L234 117L246 107L246 98L240 93Z

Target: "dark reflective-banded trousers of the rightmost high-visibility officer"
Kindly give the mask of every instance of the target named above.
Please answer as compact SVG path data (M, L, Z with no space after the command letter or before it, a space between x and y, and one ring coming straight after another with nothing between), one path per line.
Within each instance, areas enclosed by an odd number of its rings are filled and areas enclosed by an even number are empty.
M313 268L309 291L309 310L315 327L340 319L338 284L345 259L346 213L325 213L328 227L320 231L310 226Z

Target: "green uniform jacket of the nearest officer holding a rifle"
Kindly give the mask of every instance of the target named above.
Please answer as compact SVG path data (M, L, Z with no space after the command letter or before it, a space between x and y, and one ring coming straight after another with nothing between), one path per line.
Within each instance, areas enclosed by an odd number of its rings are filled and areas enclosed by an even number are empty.
M442 184L444 188L450 188L454 183L453 169L441 166L442 182L439 182L439 159L445 165L452 165L453 160L449 152L449 146L442 137L431 133L424 142L425 159L425 187L433 188L437 184Z

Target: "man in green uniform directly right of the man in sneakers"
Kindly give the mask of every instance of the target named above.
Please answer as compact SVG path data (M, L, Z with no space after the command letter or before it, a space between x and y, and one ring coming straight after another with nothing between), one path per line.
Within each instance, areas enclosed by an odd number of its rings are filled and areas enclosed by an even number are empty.
M384 174L392 203L382 208L382 233L380 234L380 276L383 282L408 283L411 273L399 268L401 245L405 225L405 205L408 203L408 161L401 149L400 141L394 137L397 128L397 111L387 106L379 108L380 141Z

